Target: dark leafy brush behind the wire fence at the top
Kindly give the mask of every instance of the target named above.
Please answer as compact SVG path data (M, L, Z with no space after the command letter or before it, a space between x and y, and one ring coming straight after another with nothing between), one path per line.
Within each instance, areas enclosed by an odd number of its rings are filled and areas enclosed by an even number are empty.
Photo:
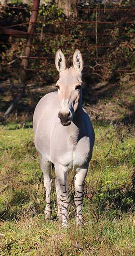
M29 68L37 69L37 81L54 82L56 79L54 67L54 54L58 48L63 48L64 53L71 61L74 49L80 48L85 59L85 70L87 78L92 77L96 81L116 81L123 77L125 72L134 72L135 67L135 27L134 27L134 3L133 1L122 1L121 5L108 4L104 11L104 5L91 4L87 6L80 3L78 6L78 17L67 17L56 4L42 5L39 9L34 42L31 47L31 56L38 57L29 59ZM12 6L12 4L9 4ZM17 4L16 6L20 6ZM31 6L25 10L6 8L2 15L3 24L15 25L23 23L21 29L27 31L27 24ZM127 9L127 10L126 10ZM96 14L97 11L97 14ZM96 42L96 15L97 15L97 42ZM90 22L90 23L86 23ZM109 23L105 23L109 22ZM133 22L133 23L132 23ZM16 26L15 29L20 29ZM24 54L25 39L10 39L9 44L3 44L2 66L10 76L11 80L19 77L21 59ZM11 43L11 45L10 45ZM97 44L97 47L96 47ZM43 58L45 57L45 58ZM96 65L91 58L98 57L98 66L95 72L90 67ZM12 69L7 63L18 58L12 64ZM101 59L100 59L101 58ZM70 64L69 63L67 64ZM126 70L126 71L119 71ZM95 74L96 73L96 74ZM35 81L35 71L28 72L28 79ZM89 74L89 75L88 75ZM98 74L98 75L97 75Z

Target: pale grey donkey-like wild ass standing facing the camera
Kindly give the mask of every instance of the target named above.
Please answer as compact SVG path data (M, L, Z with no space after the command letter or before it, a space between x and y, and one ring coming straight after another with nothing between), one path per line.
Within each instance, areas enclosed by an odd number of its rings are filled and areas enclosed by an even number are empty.
M75 175L76 222L82 223L83 183L88 171L94 146L94 130L90 118L82 107L81 52L73 54L73 67L66 68L61 49L55 56L59 71L58 92L50 92L37 104L33 116L34 142L40 155L46 190L45 219L50 219L51 163L55 168L58 218L67 227L67 173Z

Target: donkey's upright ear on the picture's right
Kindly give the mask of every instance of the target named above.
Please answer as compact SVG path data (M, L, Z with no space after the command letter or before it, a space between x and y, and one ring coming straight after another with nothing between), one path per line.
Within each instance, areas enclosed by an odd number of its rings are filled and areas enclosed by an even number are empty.
M73 62L74 68L77 71L81 72L83 69L83 59L82 59L81 52L78 49L76 49L73 54L72 62Z

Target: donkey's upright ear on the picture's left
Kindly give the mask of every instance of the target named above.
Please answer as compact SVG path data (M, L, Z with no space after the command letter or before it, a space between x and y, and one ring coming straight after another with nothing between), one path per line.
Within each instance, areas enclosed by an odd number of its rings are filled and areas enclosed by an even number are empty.
M55 65L58 72L62 72L66 69L66 60L61 49L58 49L58 51L56 52Z

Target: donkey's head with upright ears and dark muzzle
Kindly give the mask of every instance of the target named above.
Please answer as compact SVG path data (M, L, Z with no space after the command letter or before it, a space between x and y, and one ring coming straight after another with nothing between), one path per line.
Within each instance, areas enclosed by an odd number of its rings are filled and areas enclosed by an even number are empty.
M59 71L59 79L56 83L59 101L58 117L63 126L68 126L71 124L81 100L83 69L81 52L76 49L73 54L73 67L66 68L65 56L61 49L58 49L55 56L55 65Z

